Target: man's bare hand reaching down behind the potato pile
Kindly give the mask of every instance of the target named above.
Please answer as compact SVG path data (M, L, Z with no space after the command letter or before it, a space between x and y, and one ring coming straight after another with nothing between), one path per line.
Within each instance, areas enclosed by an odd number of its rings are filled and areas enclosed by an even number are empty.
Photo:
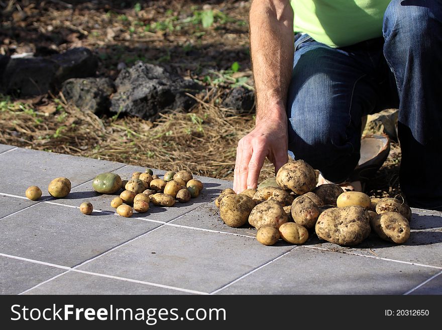
M275 165L275 173L287 162L287 119L273 121L257 124L239 141L233 181L236 193L257 187L266 157Z

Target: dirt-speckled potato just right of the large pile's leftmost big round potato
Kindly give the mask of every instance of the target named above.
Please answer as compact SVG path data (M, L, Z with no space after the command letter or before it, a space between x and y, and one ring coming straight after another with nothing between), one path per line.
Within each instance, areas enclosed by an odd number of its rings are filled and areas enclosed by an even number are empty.
M260 229L261 227L279 228L288 221L282 205L274 199L265 200L257 204L249 215L249 224Z

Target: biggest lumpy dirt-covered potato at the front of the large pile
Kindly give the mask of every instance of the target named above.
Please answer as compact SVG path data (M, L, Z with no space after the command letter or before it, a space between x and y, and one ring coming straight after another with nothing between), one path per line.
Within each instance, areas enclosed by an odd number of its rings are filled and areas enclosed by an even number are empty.
M338 245L353 246L370 235L370 215L362 206L327 208L315 225L317 237Z

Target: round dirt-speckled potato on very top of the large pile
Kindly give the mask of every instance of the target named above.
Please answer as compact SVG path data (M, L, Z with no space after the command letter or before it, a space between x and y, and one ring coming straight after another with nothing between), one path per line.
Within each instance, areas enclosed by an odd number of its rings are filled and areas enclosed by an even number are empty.
M276 182L282 189L302 195L313 190L317 178L314 169L300 159L282 165L276 173Z

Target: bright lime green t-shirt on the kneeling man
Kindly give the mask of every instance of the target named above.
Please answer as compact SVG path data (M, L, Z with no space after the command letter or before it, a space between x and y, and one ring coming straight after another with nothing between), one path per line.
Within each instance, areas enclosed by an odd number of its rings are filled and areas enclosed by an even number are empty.
M291 0L294 31L330 47L381 37L390 0Z

